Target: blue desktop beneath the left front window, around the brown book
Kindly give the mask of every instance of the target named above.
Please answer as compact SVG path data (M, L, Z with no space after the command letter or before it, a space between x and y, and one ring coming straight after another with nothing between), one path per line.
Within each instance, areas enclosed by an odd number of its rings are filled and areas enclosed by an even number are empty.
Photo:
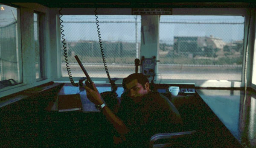
M99 93L111 91L110 84L95 84L95 85ZM120 99L123 91L124 89L121 87L121 85L118 85L116 90L118 99ZM86 91L84 88L74 87L72 84L67 83L67 84L64 84L64 86L61 88L60 92L58 93L58 95L72 95L72 94L80 94L83 112L99 112L99 110L96 109L95 105L87 98ZM51 110L58 111L58 100L55 101Z

